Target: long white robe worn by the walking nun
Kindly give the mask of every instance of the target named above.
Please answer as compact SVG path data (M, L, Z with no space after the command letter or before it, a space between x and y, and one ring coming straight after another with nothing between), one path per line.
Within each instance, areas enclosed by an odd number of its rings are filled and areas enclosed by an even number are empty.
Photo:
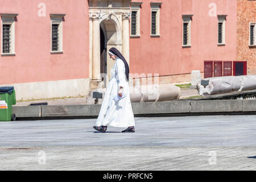
M115 101L113 97L117 95L119 86L123 86L123 93L126 94L126 97ZM125 64L119 57L115 59L111 69L111 78L96 121L96 126L101 125L114 127L135 126L129 84L125 75Z

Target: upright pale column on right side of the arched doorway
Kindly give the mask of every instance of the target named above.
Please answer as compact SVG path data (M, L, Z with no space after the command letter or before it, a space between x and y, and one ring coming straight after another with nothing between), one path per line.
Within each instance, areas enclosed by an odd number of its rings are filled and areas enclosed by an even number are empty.
M122 55L125 57L128 65L130 65L130 43L129 43L129 19L131 13L123 13L122 14Z

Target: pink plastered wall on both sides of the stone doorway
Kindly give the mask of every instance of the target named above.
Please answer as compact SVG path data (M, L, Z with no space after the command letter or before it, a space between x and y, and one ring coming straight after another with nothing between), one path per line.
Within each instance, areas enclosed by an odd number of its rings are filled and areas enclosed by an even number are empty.
M44 0L46 16L39 17L40 0L1 0L0 13L14 13L15 56L0 56L0 84L68 80L89 77L88 1ZM130 72L160 76L204 71L204 60L236 60L237 2L234 0L154 0L162 2L160 38L150 37L151 0L141 8L141 38L130 38ZM226 17L226 45L217 46L217 16ZM63 54L51 54L51 18L66 14ZM182 48L183 14L193 14L191 48ZM0 25L0 28L2 25ZM2 40L0 40L2 41ZM9 66L10 65L10 66ZM6 76L8 75L8 76Z

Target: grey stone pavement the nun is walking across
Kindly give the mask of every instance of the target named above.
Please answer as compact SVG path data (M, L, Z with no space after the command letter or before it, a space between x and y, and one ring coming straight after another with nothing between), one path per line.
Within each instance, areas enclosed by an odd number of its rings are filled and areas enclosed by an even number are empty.
M136 117L136 132L96 119L0 122L0 170L256 170L256 116Z

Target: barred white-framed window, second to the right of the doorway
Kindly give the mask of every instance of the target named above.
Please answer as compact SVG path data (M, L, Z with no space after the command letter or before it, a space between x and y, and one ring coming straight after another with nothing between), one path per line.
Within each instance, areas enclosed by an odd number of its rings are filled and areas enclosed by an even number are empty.
M162 3L151 2L151 37L160 36L160 6Z

